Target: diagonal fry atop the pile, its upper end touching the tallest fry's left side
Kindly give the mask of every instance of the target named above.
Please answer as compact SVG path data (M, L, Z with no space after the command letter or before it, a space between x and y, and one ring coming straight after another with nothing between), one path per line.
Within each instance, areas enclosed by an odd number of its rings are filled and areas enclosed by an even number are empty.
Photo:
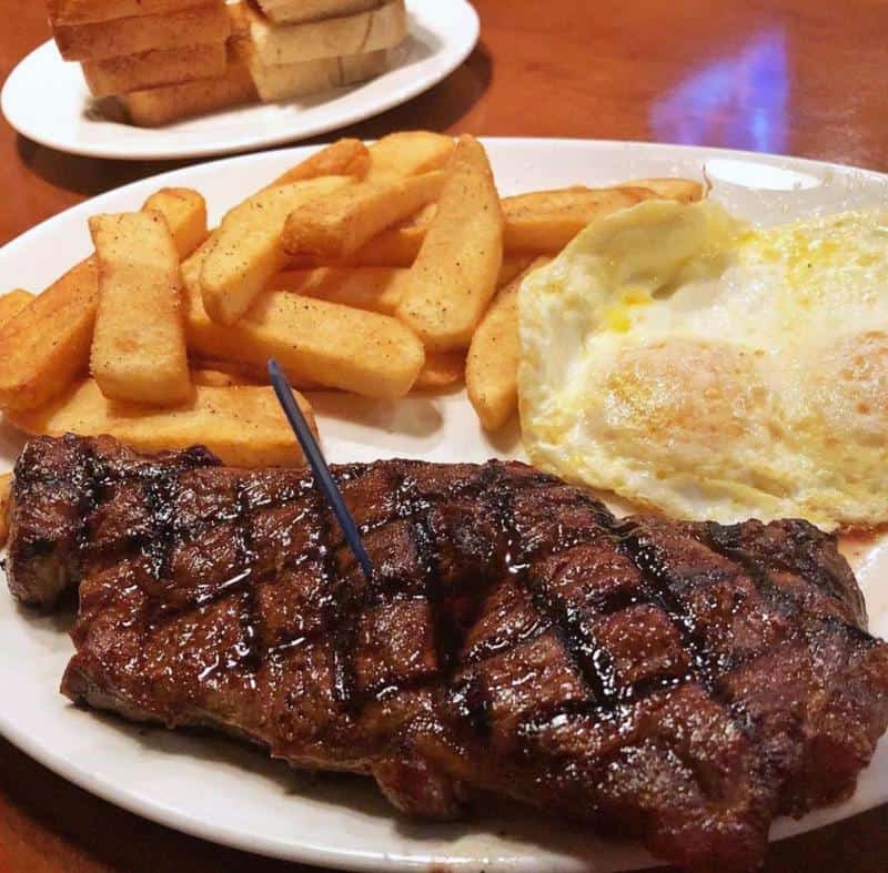
M346 260L379 233L436 200L444 173L435 171L359 182L296 206L286 217L283 246L294 255Z

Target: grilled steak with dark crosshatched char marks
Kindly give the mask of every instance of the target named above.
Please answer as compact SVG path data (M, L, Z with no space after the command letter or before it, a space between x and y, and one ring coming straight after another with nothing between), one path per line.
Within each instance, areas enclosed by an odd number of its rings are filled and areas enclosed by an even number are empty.
M616 519L519 464L334 468L366 583L302 470L34 439L10 585L80 586L71 699L373 775L451 818L507 794L745 871L771 819L848 796L888 722L888 647L804 521Z

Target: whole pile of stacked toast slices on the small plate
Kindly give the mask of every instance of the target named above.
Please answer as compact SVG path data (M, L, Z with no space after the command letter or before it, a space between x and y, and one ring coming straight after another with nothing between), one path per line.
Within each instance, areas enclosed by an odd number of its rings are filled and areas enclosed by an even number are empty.
M48 0L59 51L140 125L382 73L404 0Z

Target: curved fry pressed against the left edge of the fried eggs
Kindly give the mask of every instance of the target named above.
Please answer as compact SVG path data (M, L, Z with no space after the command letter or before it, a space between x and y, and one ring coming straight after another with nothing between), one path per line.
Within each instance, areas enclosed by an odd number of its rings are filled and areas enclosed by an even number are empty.
M537 258L502 288L472 337L465 386L486 430L498 430L518 409L518 288L524 276L547 262Z

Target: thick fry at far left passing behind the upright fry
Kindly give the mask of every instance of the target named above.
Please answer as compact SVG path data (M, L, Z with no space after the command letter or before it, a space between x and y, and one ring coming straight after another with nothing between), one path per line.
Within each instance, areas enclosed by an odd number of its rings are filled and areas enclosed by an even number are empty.
M203 197L198 197L185 200L201 212ZM182 229L193 226L195 220L179 202L170 210L171 203L161 197L154 207L163 214L173 238L182 241L181 252L189 236ZM0 407L40 406L87 373L98 300L99 271L90 256L0 326Z

